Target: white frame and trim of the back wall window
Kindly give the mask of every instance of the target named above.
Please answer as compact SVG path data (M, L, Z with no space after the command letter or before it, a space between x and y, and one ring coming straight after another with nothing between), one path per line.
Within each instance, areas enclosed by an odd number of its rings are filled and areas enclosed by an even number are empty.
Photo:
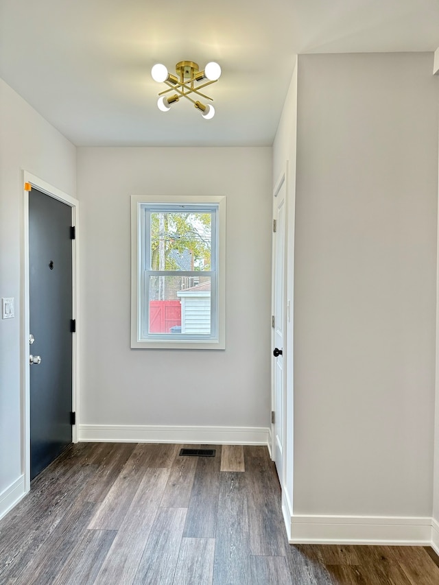
M142 336L143 315L147 307L143 306L143 278L145 274L145 246L143 237L149 234L143 225L145 204L163 206L182 205L215 205L217 263L211 277L215 287L212 295L211 311L213 311L213 333L209 337L200 335L151 334ZM196 210L195 210L196 211ZM181 271L179 275L184 275ZM202 276L202 272L199 273ZM206 273L209 276L210 272ZM174 273L170 273L174 275ZM215 349L226 348L226 197L224 195L131 195L131 347L144 349Z

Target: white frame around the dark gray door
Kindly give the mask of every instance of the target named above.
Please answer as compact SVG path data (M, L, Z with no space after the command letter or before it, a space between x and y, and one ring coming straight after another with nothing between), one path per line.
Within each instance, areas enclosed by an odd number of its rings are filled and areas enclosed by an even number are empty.
M25 492L30 490L30 372L29 372L29 183L41 193L49 195L72 208L72 222L75 226L72 256L72 319L76 320L76 333L73 335L72 346L72 408L76 413L76 424L72 427L72 442L78 442L78 410L79 410L79 201L51 184L23 171L23 215L21 232L21 468L25 478Z

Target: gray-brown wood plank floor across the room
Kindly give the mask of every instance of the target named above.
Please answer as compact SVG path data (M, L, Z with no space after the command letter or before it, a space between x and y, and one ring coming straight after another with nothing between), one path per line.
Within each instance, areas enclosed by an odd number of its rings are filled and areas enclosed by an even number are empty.
M289 545L268 450L71 445L0 521L0 584L439 585L423 547Z

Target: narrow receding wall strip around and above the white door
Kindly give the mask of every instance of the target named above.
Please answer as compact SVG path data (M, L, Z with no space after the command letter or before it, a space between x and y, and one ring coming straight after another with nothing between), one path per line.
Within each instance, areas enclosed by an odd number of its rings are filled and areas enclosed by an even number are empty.
M283 502L284 513L292 513L293 477L294 477L294 222L296 214L296 142L297 142L297 59L294 66L292 80L289 85L287 97L281 119L278 124L276 137L273 143L273 189L276 182L287 169L287 242L286 254L288 270L287 278L287 302L290 303L290 321L286 326L287 353L284 363L287 368L286 376L286 427L290 430L286 437L286 461L285 461L285 483L283 495L287 500ZM286 359L285 359L286 358ZM286 508L286 509L285 509Z

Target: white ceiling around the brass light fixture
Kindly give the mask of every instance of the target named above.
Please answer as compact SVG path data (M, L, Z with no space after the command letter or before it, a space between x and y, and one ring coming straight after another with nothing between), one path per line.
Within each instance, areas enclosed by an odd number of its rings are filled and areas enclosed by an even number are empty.
M271 145L296 53L434 51L438 0L0 0L0 76L75 145ZM211 60L216 115L154 63Z

